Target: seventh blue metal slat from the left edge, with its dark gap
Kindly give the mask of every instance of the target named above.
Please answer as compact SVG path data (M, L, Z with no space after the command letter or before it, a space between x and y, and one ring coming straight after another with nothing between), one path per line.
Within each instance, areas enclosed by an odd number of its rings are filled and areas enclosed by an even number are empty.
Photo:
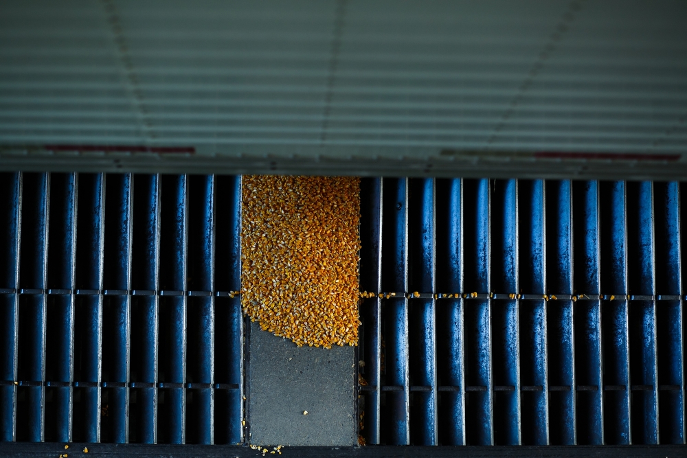
M161 186L161 262L160 288L163 290L186 290L186 244L187 244L187 179L185 175L162 177ZM186 297L164 298L160 304L160 381L185 383L186 377ZM164 311L164 317L163 312ZM163 319L164 318L164 319ZM163 336L164 334L164 336ZM165 411L159 412L158 423L164 428L159 440L172 444L185 442L185 389L166 389ZM160 431L158 432L159 436Z

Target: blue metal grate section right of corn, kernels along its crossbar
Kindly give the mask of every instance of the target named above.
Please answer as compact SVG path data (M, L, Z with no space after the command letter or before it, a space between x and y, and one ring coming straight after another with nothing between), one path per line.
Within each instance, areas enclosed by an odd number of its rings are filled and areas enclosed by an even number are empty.
M363 179L368 444L684 444L681 191Z

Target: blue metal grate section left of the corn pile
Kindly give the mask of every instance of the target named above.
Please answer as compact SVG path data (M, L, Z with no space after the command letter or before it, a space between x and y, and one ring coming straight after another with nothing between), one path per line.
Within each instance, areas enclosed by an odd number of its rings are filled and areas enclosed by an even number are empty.
M1 440L243 441L240 178L1 174L0 211Z

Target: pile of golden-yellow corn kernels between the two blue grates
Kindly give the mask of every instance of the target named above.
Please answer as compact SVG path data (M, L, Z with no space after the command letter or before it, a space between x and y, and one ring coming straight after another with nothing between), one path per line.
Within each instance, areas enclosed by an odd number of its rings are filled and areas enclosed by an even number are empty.
M243 176L241 305L299 347L357 345L360 179Z

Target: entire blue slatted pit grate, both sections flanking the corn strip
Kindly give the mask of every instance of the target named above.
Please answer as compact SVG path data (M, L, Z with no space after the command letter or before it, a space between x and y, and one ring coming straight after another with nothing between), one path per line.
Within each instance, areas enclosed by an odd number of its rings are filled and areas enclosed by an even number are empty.
M681 192L363 179L368 444L684 444ZM240 179L0 198L2 440L243 442Z

